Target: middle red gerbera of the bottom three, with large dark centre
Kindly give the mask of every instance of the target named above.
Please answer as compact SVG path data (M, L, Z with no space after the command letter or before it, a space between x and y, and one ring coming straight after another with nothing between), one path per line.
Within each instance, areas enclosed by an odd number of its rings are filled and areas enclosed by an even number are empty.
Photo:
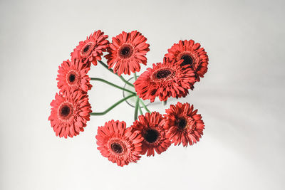
M165 120L159 112L140 115L131 127L133 132L142 135L142 154L147 153L147 157L154 156L155 152L161 154L170 147L171 142L165 136Z

